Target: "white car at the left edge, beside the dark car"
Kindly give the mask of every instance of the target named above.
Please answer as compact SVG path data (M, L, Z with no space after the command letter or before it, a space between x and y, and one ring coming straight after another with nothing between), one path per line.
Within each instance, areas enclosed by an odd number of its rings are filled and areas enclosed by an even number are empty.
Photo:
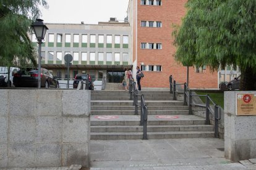
M10 80L8 81L8 67L0 67L0 87L15 87L13 84L14 74L20 69L17 67L10 68Z

